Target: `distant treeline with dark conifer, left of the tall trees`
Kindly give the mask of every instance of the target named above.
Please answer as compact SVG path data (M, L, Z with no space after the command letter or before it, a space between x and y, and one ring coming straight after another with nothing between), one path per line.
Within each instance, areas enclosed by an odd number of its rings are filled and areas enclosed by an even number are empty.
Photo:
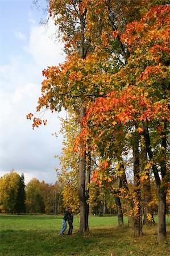
M0 179L0 212L1 213L47 213L63 212L63 186L32 179L27 185L24 174L15 171L5 174Z

